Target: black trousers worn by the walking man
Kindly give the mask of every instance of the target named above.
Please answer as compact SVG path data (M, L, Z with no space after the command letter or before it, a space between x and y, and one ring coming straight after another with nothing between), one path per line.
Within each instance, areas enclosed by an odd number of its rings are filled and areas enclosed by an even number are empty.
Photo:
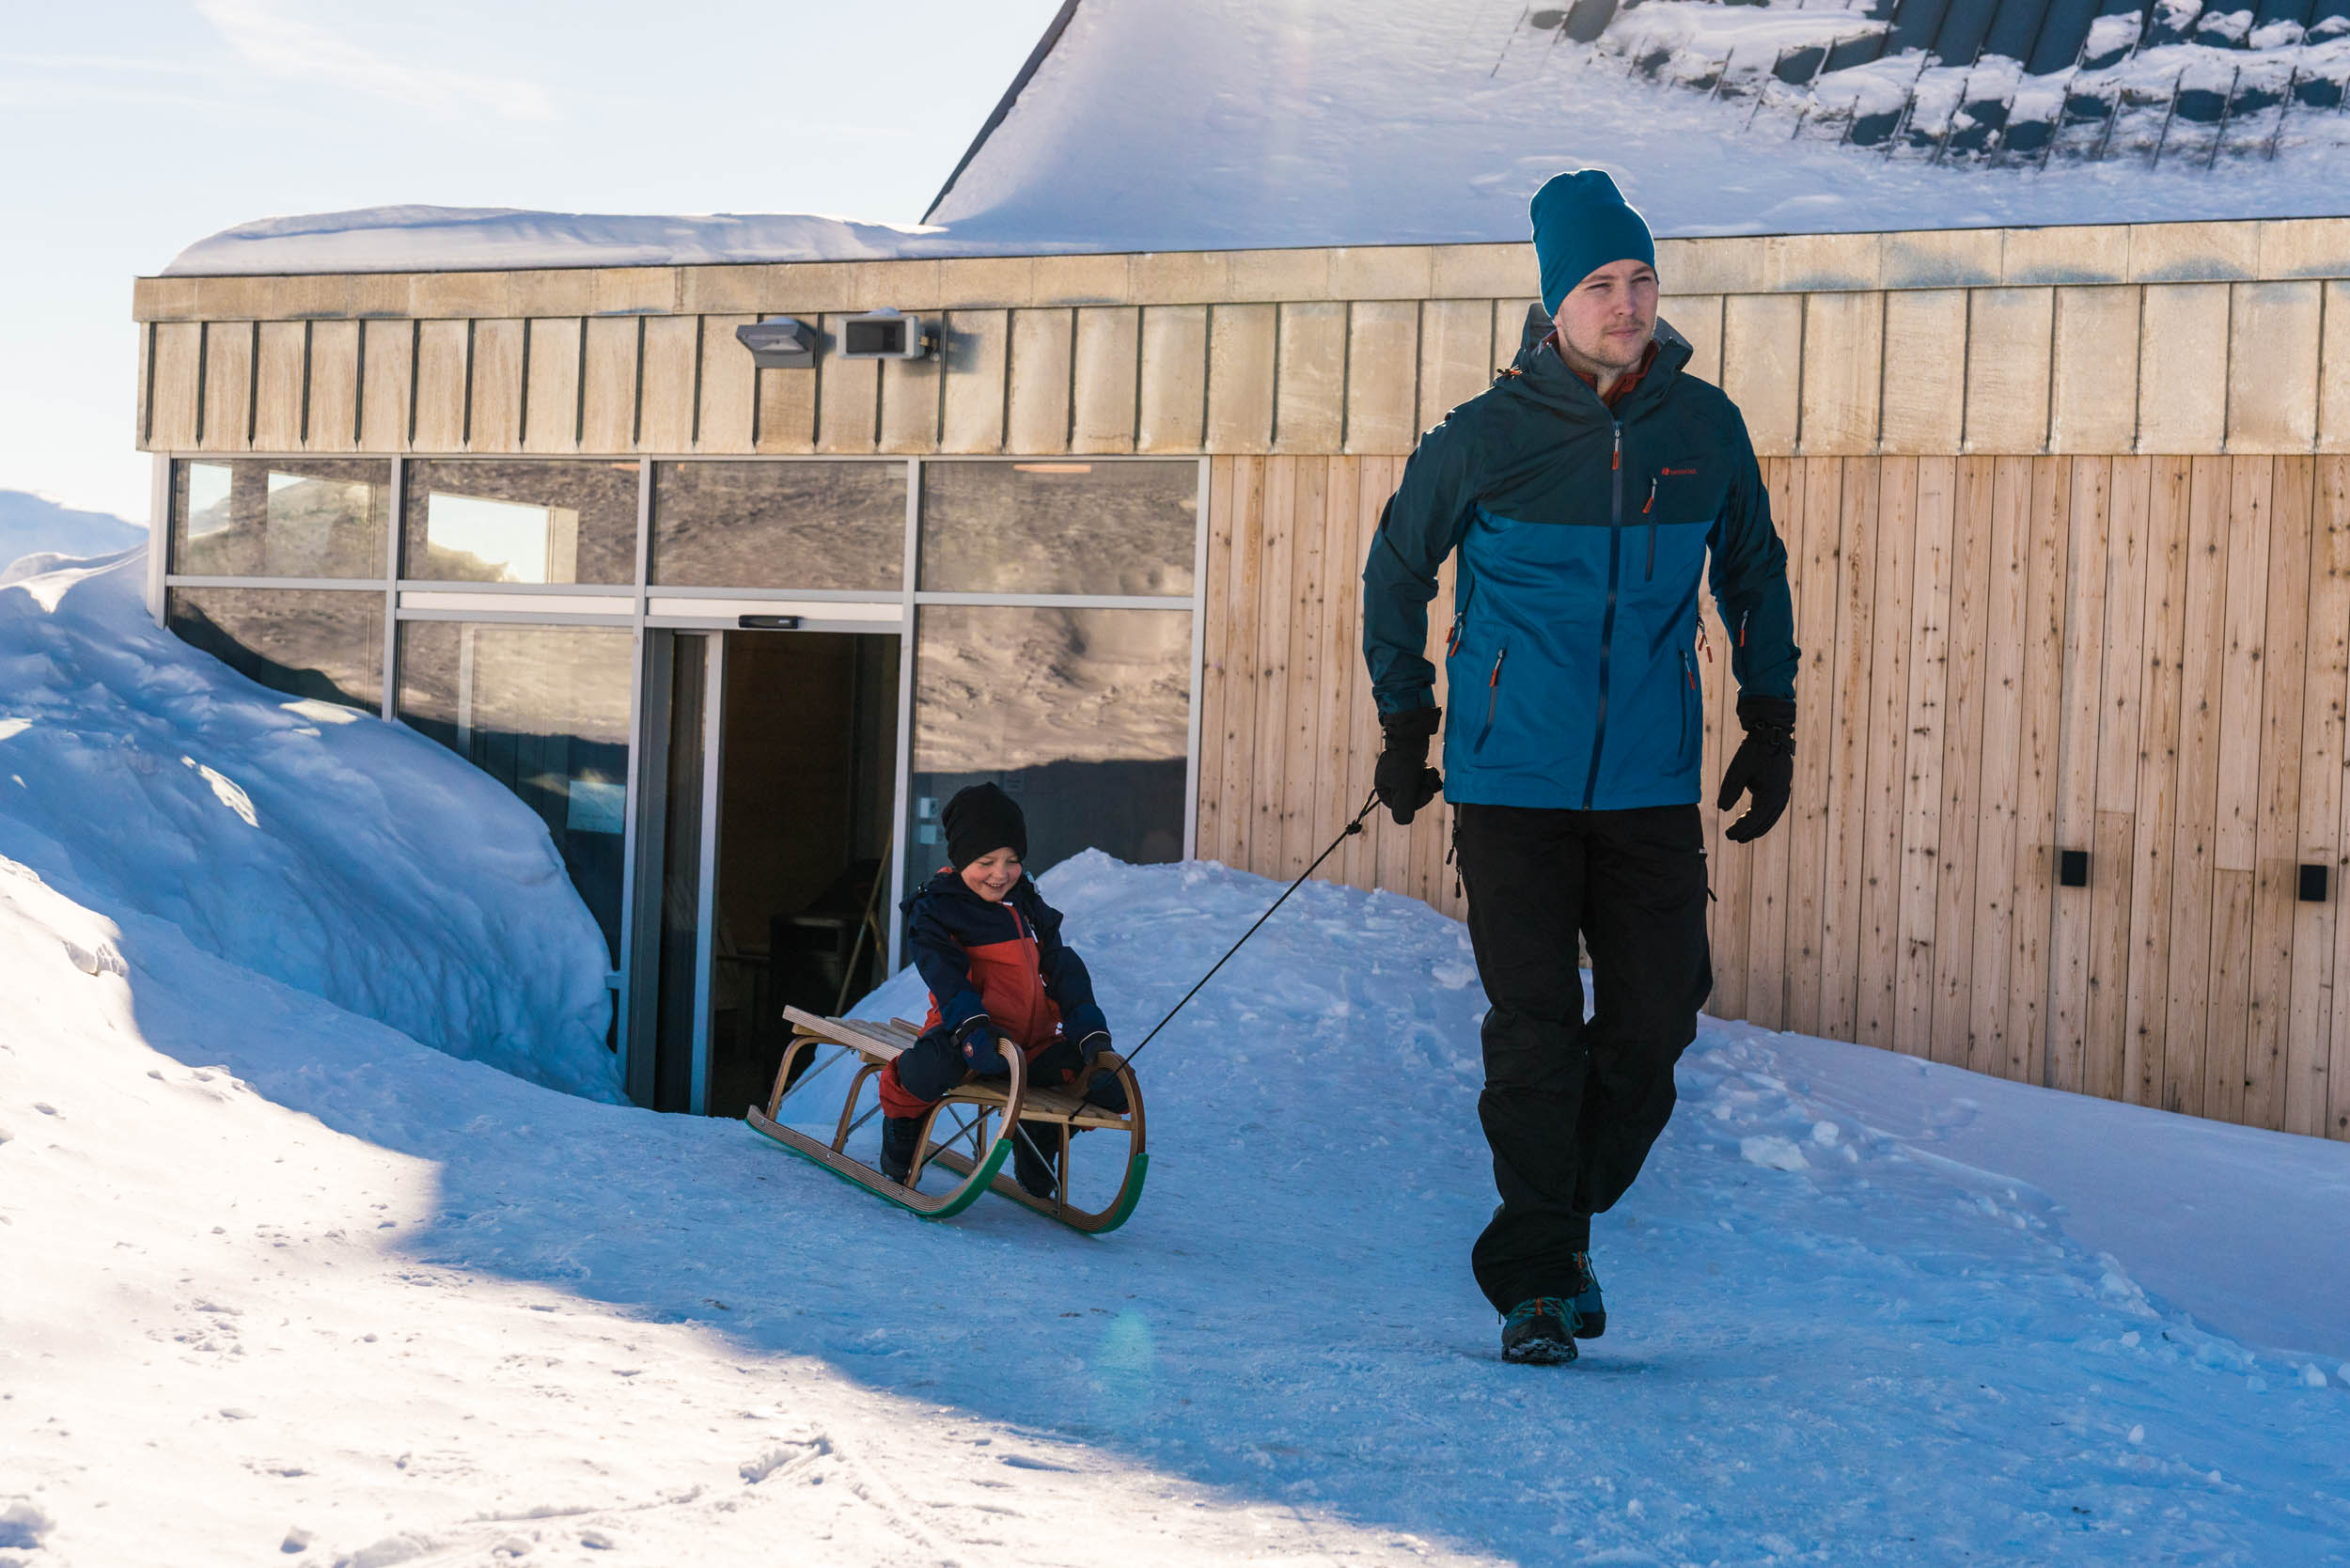
M1697 806L1457 806L1485 983L1485 1093L1502 1206L1469 1255L1499 1312L1572 1295L1591 1215L1673 1117L1673 1063L1713 990ZM1591 1018L1574 938L1591 950Z

